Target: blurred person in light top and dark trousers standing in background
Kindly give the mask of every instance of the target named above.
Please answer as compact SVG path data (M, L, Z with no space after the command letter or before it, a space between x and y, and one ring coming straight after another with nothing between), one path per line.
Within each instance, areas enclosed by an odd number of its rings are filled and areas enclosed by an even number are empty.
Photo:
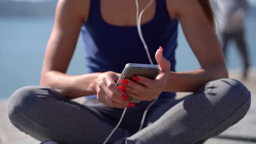
M227 47L234 40L243 61L243 79L248 76L249 56L245 40L245 18L248 14L247 0L217 0L220 7L218 15L219 37L227 59Z

